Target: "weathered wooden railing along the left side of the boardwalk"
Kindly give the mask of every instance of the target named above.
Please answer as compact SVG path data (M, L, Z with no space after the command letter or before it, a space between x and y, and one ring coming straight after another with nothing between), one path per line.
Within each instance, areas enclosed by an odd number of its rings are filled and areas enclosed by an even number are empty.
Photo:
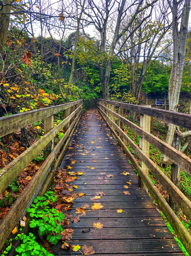
M46 152L49 148L52 149L46 154L46 160L0 222L0 249L3 247L19 218L21 219L24 215L25 208L30 206L39 191L43 194L49 188L81 117L83 112L82 106L83 100L78 100L76 102L0 118L0 136L5 136L34 122L44 120L44 136L0 171L0 193L10 185L40 151L44 149ZM65 111L65 119L54 127L54 114L61 111ZM53 138L63 127L65 127L66 132L58 144L53 147ZM61 153L53 165L57 153L60 150Z

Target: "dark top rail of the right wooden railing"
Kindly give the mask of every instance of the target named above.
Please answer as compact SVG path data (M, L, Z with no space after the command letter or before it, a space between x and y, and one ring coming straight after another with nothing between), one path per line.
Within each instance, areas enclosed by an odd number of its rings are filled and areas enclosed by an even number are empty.
M190 114L183 114L179 112L172 112L163 109L157 108L149 108L139 105L121 103L121 102L114 102L111 100L102 100L104 103L107 102L109 104L113 104L117 107L122 107L127 110L132 110L136 113L146 114L147 116L152 116L164 122L173 123L174 125L178 125L181 127L185 127L191 130L191 115ZM98 101L99 103L99 101Z

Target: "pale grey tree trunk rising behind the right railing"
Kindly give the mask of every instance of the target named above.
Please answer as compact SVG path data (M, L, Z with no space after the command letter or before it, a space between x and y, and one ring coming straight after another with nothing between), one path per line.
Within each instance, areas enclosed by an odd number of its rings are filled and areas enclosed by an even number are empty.
M182 3L173 0L173 6L171 1L168 0L168 4L171 8L172 19L172 33L173 33L173 62L171 76L169 79L168 99L169 99L169 111L178 111L178 101L180 96L180 89L182 84L182 74L186 55L186 42L188 31L188 18L190 13L190 0L185 0L182 10L182 18L180 24L180 30L178 30L178 12ZM172 140L175 132L175 125L169 124L166 143L172 145ZM161 155L160 165L163 168L169 166L169 160L166 156Z

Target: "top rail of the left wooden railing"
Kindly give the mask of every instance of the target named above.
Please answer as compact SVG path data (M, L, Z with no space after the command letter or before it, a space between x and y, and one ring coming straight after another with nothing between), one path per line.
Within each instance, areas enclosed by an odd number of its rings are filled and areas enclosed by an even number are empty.
M14 131L21 129L34 122L42 120L48 116L52 116L58 112L61 112L77 103L82 103L83 100L77 100L76 102L65 103L58 106L37 109L28 111L25 113L14 114L12 116L6 116L0 118L0 137L6 134L13 133Z

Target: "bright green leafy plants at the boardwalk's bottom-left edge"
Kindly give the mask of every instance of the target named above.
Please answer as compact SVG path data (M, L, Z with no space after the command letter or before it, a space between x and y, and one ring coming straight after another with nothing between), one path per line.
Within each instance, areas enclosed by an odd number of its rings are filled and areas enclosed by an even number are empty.
M53 256L46 249L40 245L34 233L38 233L39 237L47 239L50 243L57 244L58 240L61 238L59 233L63 232L61 227L61 221L64 219L65 215L62 212L58 213L55 208L51 205L56 202L57 197L55 193L48 191L43 197L37 196L34 199L34 203L31 204L30 208L27 208L27 212L30 214L31 220L29 221L29 226L33 233L30 232L28 235L24 233L19 233L13 239L9 239L6 242L6 249L1 254L5 256L11 250L11 245L14 240L20 239L20 246L15 248L18 253L16 256ZM21 232L22 228L20 229Z

